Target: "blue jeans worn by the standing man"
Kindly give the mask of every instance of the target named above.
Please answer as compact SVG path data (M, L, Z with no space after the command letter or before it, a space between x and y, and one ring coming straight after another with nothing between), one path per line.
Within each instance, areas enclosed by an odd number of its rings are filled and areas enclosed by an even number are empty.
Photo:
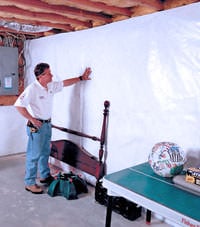
M48 159L50 155L51 123L43 123L37 132L27 126L28 146L26 152L25 185L36 184L37 172L40 178L50 175Z

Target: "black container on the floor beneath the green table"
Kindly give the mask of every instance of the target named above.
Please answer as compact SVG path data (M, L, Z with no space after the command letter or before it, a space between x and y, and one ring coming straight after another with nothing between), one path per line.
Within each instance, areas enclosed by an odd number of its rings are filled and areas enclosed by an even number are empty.
M107 189L102 186L101 181L97 181L96 183L95 200L101 205L107 206L108 203ZM123 197L118 196L113 197L112 210L131 221L134 221L137 218L139 218L142 213L142 207Z

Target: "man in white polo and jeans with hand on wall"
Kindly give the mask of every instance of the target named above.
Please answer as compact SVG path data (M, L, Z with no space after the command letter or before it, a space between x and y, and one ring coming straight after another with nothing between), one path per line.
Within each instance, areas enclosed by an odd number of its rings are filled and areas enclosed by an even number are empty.
M53 75L47 63L36 65L34 73L36 80L22 92L14 106L28 120L25 189L41 194L43 190L36 184L37 171L40 183L50 184L54 179L48 166L53 95L63 87L90 80L91 69L86 68L82 76L59 82L52 81Z

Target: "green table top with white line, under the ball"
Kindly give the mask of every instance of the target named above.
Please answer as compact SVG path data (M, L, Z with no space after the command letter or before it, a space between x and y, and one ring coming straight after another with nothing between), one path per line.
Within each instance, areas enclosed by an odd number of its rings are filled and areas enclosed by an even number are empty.
M105 179L174 211L200 221L200 197L153 172L146 162L105 176Z

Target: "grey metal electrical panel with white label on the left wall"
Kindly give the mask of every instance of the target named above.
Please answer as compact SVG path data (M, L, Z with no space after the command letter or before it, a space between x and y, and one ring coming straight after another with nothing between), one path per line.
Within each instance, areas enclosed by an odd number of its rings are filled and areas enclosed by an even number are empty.
M0 47L0 95L18 94L18 48Z

